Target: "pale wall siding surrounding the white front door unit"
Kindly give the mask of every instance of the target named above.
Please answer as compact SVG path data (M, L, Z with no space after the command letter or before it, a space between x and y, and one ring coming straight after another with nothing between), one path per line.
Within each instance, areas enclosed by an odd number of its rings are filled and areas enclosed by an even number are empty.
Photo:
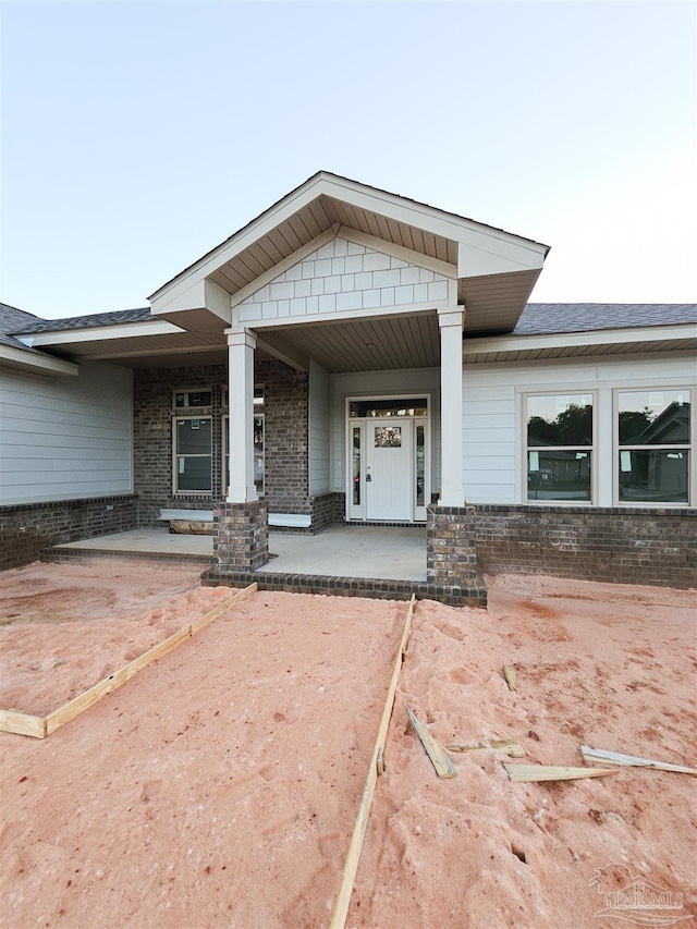
M331 375L331 489L346 489L346 398L430 395L431 490L440 485L440 368Z

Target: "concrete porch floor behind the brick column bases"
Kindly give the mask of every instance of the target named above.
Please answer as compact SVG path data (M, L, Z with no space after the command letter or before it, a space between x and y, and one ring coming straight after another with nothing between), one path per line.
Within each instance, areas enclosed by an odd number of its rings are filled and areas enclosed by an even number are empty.
M63 549L213 558L212 536L185 536L164 529L131 529L54 546L54 550ZM277 557L259 569L260 573L426 582L426 529L421 527L332 526L316 536L270 531L269 553Z

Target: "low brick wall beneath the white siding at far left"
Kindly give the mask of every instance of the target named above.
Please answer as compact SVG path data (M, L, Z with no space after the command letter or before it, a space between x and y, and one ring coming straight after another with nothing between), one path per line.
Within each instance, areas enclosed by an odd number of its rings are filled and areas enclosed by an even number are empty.
M0 506L0 571L36 561L50 546L123 533L136 525L134 496Z

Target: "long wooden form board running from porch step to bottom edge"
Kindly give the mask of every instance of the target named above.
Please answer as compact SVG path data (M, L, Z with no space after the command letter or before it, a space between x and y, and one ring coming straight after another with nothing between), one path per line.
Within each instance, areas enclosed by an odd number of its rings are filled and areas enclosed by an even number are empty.
M358 807L358 815L356 816L356 821L353 828L351 844L348 845L348 853L346 854L346 860L344 863L341 885L339 888L339 893L337 894L334 909L331 915L331 922L329 924L330 929L343 929L343 927L346 925L346 916L348 915L348 904L351 903L351 894L353 893L353 882L356 878L356 871L358 870L358 861L360 860L363 842L366 835L366 829L368 827L368 816L370 814L370 805L372 804L372 796L375 794L375 785L378 780L378 774L382 774L384 771L384 741L387 738L388 728L390 725L390 719L392 717L392 710L394 709L396 684L400 679L400 671L402 670L402 664L404 663L404 656L406 653L408 645L409 631L412 627L412 618L414 615L415 604L416 597L412 595L412 599L409 600L409 608L406 612L406 620L404 621L404 632L402 633L402 640L400 641L400 648L396 653L394 669L392 671L392 679L390 680L390 686L388 688L388 697L384 701L384 709L382 710L382 718L378 728L378 735L375 741L372 755L370 756L368 777L366 778L366 782L363 787L363 794L360 795L360 805Z

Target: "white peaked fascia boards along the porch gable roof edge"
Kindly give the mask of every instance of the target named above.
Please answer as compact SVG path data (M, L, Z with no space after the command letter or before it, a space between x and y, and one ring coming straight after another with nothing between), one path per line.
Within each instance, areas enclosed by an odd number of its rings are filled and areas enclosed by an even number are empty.
M488 247L484 248L484 245L481 247L484 250L492 254L497 254L497 247L503 247L504 243L513 248L517 247L523 250L530 250L536 255L540 255L541 259L543 259L548 252L546 245L539 245L513 233L496 230L484 223L443 212L435 207L412 203L395 194L389 194L375 188L368 190L355 181L320 172L270 209L266 210L266 212L261 213L260 217L253 220L244 229L241 229L230 239L225 240L225 242L222 242L207 255L204 255L203 258L199 258L198 261L195 261L171 281L158 288L155 293L150 294L150 303L155 307L156 303L159 303L167 294L181 293L182 290L187 290L194 282L212 274L218 268L234 258L235 255L244 252L249 245L253 245L268 232L276 229L277 225L290 219L290 217L294 216L303 207L322 195L334 197L359 209L378 212L398 222L415 225L435 235L451 239L454 242L462 241L466 243L465 231L468 230L470 241L474 237L474 241L481 240L484 243L485 240L482 236L490 239ZM497 243L502 244L497 245ZM523 262L523 267L530 266ZM534 265L531 267L537 266ZM541 267L541 264L539 267Z

